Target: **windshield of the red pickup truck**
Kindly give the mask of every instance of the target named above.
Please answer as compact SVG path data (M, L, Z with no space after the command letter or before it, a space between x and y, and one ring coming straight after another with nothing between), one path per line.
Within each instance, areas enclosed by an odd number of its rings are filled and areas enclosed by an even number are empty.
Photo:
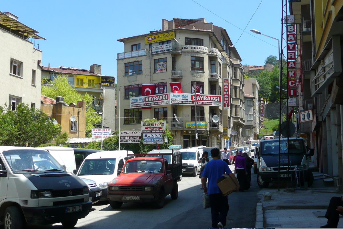
M122 173L162 173L161 161L133 160L127 161Z

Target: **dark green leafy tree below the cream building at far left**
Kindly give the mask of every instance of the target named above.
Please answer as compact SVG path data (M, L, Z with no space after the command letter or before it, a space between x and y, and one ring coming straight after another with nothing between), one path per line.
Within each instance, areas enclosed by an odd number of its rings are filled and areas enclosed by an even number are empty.
M20 103L16 110L0 106L0 145L38 147L61 132L44 111Z

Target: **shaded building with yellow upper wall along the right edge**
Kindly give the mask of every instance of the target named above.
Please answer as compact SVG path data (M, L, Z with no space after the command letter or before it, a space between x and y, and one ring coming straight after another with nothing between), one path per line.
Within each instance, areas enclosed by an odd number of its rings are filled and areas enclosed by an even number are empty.
M300 130L315 149L311 161L343 190L343 1L292 0L297 44Z

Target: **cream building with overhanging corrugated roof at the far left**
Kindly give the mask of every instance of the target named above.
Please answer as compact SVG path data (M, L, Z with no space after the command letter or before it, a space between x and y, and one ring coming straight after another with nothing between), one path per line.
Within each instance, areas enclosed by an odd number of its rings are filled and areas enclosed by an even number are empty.
M42 51L34 44L45 38L37 33L14 14L0 11L0 76L6 83L1 89L1 106L7 104L15 110L23 102L40 107Z

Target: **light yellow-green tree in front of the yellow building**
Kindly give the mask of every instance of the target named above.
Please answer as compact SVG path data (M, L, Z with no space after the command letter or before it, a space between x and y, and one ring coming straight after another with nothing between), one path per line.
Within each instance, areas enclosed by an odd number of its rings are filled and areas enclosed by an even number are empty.
M52 82L52 85L42 86L41 93L50 98L55 99L57 96L63 96L64 102L67 104L75 103L78 101L86 101L86 136L90 137L91 129L102 121L102 117L95 112L92 107L93 97L89 94L81 94L75 88L71 87L68 83L67 77L63 77L61 74Z

